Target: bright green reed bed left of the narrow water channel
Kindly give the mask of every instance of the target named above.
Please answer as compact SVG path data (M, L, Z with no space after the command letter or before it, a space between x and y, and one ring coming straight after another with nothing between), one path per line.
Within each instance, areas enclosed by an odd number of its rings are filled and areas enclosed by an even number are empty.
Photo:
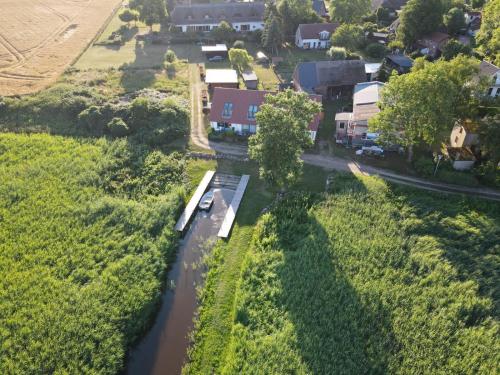
M117 373L176 248L183 159L2 134L0 181L0 373Z

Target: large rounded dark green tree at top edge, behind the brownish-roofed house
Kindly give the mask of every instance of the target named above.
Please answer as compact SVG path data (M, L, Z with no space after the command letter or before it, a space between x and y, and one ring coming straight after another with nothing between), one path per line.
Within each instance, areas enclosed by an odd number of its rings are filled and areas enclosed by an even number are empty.
M443 20L441 0L410 0L401 12L398 39L408 48L423 35L435 31Z

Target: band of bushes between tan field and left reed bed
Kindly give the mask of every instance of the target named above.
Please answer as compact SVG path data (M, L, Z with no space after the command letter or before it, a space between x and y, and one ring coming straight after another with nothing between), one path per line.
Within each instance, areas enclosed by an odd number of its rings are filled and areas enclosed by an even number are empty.
M0 129L130 135L141 143L168 144L188 132L186 89L187 80L169 79L161 70L74 71L38 94L0 98ZM117 131L120 119L125 126Z

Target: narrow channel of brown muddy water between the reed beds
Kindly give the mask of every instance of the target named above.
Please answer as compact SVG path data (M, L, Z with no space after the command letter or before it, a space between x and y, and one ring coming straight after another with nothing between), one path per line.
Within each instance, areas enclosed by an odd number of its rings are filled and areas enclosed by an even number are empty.
M233 190L214 189L214 204L209 212L197 212L180 240L175 263L167 276L156 321L133 349L126 373L129 375L180 374L187 357L188 334L196 312L196 287L202 282L200 261L215 243Z

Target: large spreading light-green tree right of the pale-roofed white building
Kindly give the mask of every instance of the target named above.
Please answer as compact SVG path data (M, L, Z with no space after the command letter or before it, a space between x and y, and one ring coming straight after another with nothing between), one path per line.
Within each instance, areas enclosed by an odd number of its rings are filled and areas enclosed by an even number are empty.
M392 75L382 91L380 113L369 121L382 139L408 148L435 145L449 136L456 121L470 114L477 62L466 57L430 63L418 59L408 74Z

